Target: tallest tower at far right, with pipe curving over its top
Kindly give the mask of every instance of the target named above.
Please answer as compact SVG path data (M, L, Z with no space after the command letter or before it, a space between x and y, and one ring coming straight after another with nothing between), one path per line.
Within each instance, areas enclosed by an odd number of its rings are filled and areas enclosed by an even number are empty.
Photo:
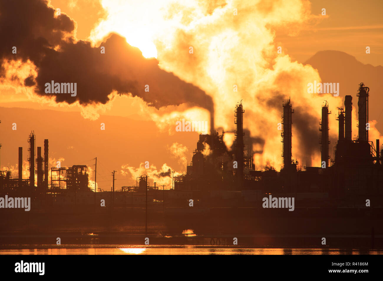
M368 141L368 130L367 122L368 122L368 92L370 88L364 87L363 83L359 84L359 89L357 96L358 99L358 140L359 141Z

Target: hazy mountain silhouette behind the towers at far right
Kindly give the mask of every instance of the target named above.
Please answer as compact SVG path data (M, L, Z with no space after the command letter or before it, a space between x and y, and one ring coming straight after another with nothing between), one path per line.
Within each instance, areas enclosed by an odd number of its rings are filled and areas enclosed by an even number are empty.
M345 52L326 50L317 52L304 64L316 68L322 83L339 83L339 97L351 95L352 103L358 110L358 85L363 82L370 88L369 119L376 120L376 128L383 134L383 67L359 62L352 55Z

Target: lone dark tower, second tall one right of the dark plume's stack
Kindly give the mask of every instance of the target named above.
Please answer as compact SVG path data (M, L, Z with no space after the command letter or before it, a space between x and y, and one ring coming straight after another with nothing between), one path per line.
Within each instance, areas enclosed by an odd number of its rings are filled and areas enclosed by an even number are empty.
M288 169L291 166L291 137L293 136L291 132L291 124L292 122L292 114L294 113L294 109L292 109L290 104L290 97L288 101L283 104L283 115L282 115L282 124L283 130L281 133L283 150L283 168Z

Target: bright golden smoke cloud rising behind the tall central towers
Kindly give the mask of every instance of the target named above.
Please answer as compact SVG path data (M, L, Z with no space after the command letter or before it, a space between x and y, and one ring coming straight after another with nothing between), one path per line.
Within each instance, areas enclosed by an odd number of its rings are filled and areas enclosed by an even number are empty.
M118 16L112 3L105 2L110 18ZM160 67L193 81L212 96L215 126L225 132L235 129L234 108L243 100L244 128L251 132L251 140L256 140L255 169L263 169L267 161L278 169L282 166L278 123L283 101L289 97L295 109L293 159L304 164L303 160L309 158L313 165L320 164L322 102L326 99L330 110L336 112L342 99L332 94L309 94L307 84L321 81L318 71L292 61L285 49L278 53L274 42L276 30L293 35L319 20L319 16L310 14L309 1L191 0L174 4L169 0L158 5L155 13L160 10L162 18L149 16L160 27L151 34ZM111 27L118 28L105 20L96 30L100 36ZM336 127L333 118L330 128ZM336 130L330 134L330 138L336 137Z

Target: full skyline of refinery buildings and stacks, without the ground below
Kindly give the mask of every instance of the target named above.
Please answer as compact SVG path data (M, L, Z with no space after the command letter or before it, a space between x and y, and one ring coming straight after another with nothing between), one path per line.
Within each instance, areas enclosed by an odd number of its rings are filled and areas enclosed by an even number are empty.
M161 190L155 183L154 187L150 187L147 175L141 175L137 177L136 186L124 186L116 192L113 187L110 195L111 202L133 204L134 201L141 200L137 198L143 198L143 193L148 192L149 198L157 201L164 201L165 198L172 198L173 201L177 198L184 200L192 194L197 201L210 202L211 198L223 200L227 197L241 198L243 202L249 204L264 193L300 193L299 196L297 195L300 198L318 198L318 200L328 198L327 203L334 199L341 199L344 200L344 205L352 204L354 198L360 195L381 196L383 149L380 151L379 140L374 143L368 139L369 88L360 83L357 96L358 137L352 139L352 96L345 96L345 108L339 108L336 116L339 128L338 141L334 146L334 158L330 158L329 155L331 112L329 112L328 102L324 101L322 118L319 122L320 167L306 166L302 170L298 161L293 160L291 140L294 109L293 101L289 98L282 105L283 167L280 171L276 171L271 166L265 166L264 171L255 171L252 164L252 144L248 141L250 132L243 128L246 115L244 115L244 106L241 101L234 110L236 130L231 148L226 147L223 141L225 132L222 131L219 135L212 128L210 135L199 135L191 162L187 164L186 172L174 179L174 188L164 191L164 187ZM49 179L48 140L44 140L44 154L42 154L41 146L36 148L35 140L36 136L34 132L31 132L28 138L29 178L22 178L23 148L19 147L18 177L13 178L10 171L1 171L1 193L27 192L32 198L48 201L54 198L54 202L70 202L73 200L68 198L74 197L74 202L80 200L80 203L83 196L84 201L91 203L90 198L94 187L88 186L88 167L85 165L51 167ZM36 181L35 175L37 175ZM98 190L98 192L106 191ZM126 193L130 194L130 200ZM59 197L64 199L61 200ZM122 199L119 200L119 197ZM96 202L96 196L94 198L93 201Z

